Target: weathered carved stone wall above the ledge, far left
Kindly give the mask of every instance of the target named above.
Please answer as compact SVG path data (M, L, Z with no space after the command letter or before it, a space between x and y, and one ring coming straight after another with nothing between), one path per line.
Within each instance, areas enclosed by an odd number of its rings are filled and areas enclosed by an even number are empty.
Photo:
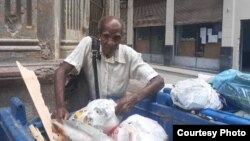
M30 10L27 2L0 1L0 66L53 59L54 1L32 0Z

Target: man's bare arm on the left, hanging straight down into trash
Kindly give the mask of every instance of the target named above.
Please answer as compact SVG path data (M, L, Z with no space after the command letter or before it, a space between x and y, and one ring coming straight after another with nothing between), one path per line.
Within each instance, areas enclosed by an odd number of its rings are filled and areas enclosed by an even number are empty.
M55 97L56 97L56 118L67 119L68 111L65 108L64 103L64 87L66 83L66 77L70 71L74 69L74 66L63 62L60 67L55 71Z

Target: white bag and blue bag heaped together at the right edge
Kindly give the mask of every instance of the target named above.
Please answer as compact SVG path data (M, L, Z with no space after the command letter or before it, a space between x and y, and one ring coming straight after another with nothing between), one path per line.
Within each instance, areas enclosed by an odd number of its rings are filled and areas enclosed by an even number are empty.
M214 109L229 111L250 119L250 74L225 70L215 76L178 81L171 87L174 105L190 111Z

